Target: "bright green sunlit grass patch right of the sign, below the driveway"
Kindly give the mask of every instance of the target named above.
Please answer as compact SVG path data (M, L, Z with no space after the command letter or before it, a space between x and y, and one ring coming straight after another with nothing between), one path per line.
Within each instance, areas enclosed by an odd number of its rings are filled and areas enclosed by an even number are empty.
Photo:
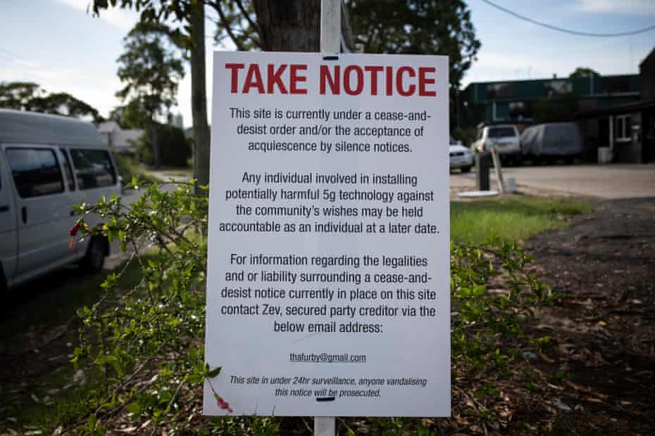
M520 241L542 231L562 229L568 217L591 211L589 203L563 197L514 196L451 202L451 239L475 245L492 238Z

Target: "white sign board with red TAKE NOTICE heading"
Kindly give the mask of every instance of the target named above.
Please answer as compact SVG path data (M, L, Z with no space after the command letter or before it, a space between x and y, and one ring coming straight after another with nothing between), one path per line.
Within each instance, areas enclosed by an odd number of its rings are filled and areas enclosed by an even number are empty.
M216 52L204 413L449 416L448 59Z

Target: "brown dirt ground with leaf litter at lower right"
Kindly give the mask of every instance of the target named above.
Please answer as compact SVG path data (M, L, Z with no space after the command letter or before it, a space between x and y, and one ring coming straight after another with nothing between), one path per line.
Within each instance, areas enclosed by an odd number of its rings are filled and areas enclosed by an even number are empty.
M653 435L655 198L596 206L528 242L537 274L562 294L531 333L554 338L542 364L570 374L555 402L562 434Z

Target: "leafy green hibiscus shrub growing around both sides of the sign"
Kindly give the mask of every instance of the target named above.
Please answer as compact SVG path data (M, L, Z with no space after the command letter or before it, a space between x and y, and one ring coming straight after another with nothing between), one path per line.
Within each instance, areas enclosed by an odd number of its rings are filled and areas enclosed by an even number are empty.
M157 185L143 188L137 180L132 185L143 195L130 207L117 198L78 207L82 216L94 212L104 220L93 229L81 226L85 237L101 233L118 241L123 250L134 250L130 262L139 265L142 280L125 290L117 286L123 272L110 274L99 302L80 309L84 327L74 361L95 366L102 374L101 385L89 391L89 405L80 416L68 416L57 424L62 431L85 434L111 432L116 430L113 425L128 418L135 428L152 432L282 432L282 424L289 426L282 418L201 416L204 379L220 371L204 366L208 200L194 195L193 183L179 183L172 192ZM151 247L148 257L142 255L146 247ZM522 355L516 340L524 335L520 320L532 315L532 307L551 302L549 288L525 272L529 261L530 256L513 243L451 244L451 314L445 316L451 317L454 380L478 377L483 370L509 373L511 363ZM489 292L489 281L498 276L506 280L503 292ZM508 339L512 347L504 347ZM475 395L497 392L485 380ZM466 402L459 407L466 409ZM473 409L462 413L486 416ZM117 416L121 418L116 420ZM371 421L369 428L382 433L407 425L418 434L432 434L415 419ZM350 423L358 425L358 421ZM343 425L348 424L343 421ZM354 434L349 427L347 432Z

